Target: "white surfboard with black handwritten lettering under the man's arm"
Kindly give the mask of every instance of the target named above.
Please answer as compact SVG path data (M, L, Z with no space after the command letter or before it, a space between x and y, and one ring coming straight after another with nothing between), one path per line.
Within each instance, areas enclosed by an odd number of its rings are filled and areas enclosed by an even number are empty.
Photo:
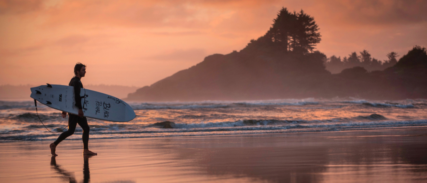
M117 97L84 88L80 90L80 95L86 117L112 122L128 122L135 118L132 107ZM79 113L72 86L47 84L32 87L30 97L54 109L76 115Z

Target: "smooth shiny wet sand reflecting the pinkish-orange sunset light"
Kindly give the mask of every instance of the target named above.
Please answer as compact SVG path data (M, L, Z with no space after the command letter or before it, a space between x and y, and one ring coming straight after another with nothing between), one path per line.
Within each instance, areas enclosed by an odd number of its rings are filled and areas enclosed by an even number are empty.
M427 181L427 128L0 143L0 182Z

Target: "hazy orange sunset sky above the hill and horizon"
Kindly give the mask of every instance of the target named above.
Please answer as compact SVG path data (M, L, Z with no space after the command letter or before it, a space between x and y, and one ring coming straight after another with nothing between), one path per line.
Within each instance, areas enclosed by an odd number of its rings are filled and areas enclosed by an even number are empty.
M317 49L384 60L427 46L425 0L0 0L0 85L142 87L264 35L281 7L315 18Z

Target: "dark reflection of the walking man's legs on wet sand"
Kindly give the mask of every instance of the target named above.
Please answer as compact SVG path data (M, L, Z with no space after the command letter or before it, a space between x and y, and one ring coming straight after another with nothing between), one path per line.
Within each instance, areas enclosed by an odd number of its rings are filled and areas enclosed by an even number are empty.
M84 155L83 156L83 159L85 162L85 163L83 163L83 182L84 183L88 183L89 180L91 179L91 175L89 173L89 158L92 156L94 156L94 155ZM60 165L57 165L55 158L56 158L56 156L52 156L52 158L50 159L51 168L55 169L58 174L61 174L61 179L65 180L65 181L68 180L68 181L70 181L70 183L77 183L76 177L74 176L74 173L67 171L64 168L61 168Z

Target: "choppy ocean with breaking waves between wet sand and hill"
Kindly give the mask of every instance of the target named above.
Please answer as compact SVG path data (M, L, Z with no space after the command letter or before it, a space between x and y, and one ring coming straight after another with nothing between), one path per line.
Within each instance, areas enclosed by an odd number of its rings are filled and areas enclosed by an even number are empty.
M276 99L256 101L128 102L130 122L88 118L90 139L183 137L236 134L423 128L427 99L374 101L356 98ZM0 142L53 141L68 116L34 101L0 101ZM65 131L65 130L64 130ZM77 125L67 139L82 139Z

